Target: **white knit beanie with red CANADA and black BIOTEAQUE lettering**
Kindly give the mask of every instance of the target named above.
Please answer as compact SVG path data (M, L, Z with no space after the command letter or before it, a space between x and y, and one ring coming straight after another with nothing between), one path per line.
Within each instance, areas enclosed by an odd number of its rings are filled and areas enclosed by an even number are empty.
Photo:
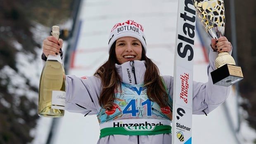
M117 39L126 36L130 36L140 40L141 44L144 47L145 53L147 52L147 43L146 37L143 33L143 26L133 20L127 20L123 23L117 23L114 25L109 35L109 51L111 46Z

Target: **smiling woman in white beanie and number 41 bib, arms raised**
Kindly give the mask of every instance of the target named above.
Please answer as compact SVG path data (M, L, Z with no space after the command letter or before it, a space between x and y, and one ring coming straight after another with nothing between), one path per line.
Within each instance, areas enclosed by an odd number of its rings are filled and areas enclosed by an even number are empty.
M132 20L115 24L109 35L109 58L94 76L66 76L65 109L97 115L98 144L171 143L173 77L160 76L158 67L146 56L143 31L143 26ZM50 40L45 40L43 55L55 54L61 47L51 47L52 42L61 43ZM211 50L211 57L216 57L218 52ZM209 73L213 68L211 61ZM209 77L207 83L193 82L193 90L193 114L204 114L225 101L230 87L213 85Z

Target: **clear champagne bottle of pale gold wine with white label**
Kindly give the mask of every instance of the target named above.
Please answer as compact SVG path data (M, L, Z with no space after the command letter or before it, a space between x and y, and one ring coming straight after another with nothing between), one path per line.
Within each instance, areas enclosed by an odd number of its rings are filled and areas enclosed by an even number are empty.
M52 26L52 35L59 39L59 26ZM66 75L60 55L47 57L40 77L38 115L63 117L65 108Z

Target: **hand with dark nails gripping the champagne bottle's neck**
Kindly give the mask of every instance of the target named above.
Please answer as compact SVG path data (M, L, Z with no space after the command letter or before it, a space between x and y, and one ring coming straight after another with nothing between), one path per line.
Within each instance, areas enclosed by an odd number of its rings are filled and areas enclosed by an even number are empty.
M43 40L43 53L45 57L49 55L58 55L61 53L63 40L55 38L54 36L48 36Z

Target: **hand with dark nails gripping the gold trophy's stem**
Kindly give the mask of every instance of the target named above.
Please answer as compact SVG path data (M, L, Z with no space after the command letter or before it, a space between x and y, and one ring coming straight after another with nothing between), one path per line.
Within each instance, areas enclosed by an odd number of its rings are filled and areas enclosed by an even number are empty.
M225 36L220 37L218 40L211 39L211 48L215 52L230 52L232 50L232 45Z

